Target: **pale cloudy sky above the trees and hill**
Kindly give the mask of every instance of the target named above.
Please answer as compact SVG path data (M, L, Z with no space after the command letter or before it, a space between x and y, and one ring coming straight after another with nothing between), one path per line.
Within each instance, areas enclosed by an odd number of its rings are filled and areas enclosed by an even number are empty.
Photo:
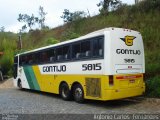
M135 0L121 0L122 3L134 4ZM50 28L63 24L64 9L74 11L89 11L91 16L99 13L97 4L100 0L0 0L0 27L5 31L18 33L24 23L18 22L18 15L32 13L38 16L39 6L47 12L45 25Z

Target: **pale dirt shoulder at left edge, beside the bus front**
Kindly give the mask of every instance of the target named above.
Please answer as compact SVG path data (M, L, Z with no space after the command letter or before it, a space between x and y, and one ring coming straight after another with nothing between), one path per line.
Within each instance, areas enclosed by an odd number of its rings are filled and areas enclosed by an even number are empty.
M8 80L0 81L0 89L5 89L5 88L14 88L12 78Z

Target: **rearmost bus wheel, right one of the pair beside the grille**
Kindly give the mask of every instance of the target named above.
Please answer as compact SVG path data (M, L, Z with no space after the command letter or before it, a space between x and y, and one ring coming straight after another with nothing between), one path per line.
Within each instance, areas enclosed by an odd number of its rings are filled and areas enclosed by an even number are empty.
M80 84L76 84L73 87L73 96L74 100L78 103L82 103L84 101L84 91Z

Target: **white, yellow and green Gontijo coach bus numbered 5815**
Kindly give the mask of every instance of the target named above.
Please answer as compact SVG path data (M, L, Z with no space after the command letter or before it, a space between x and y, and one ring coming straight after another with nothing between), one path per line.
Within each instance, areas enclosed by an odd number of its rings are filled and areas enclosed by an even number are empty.
M145 92L142 36L105 28L14 57L14 85L62 99L116 100Z

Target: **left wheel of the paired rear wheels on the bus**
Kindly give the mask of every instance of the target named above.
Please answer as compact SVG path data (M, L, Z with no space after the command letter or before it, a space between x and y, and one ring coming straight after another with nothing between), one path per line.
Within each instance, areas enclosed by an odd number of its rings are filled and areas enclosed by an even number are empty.
M69 86L67 85L67 83L62 83L60 85L59 93L60 93L63 100L70 100L71 99L71 91L69 90Z

